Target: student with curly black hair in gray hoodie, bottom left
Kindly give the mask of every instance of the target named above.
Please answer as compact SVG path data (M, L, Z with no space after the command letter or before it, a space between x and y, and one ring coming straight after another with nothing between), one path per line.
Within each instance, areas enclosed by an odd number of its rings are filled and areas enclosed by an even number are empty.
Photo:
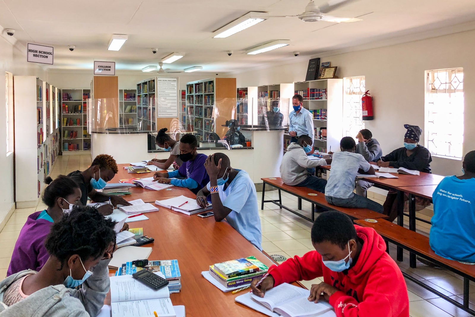
M47 236L50 256L43 268L0 282L0 316L96 316L109 291L114 224L91 207L64 214Z

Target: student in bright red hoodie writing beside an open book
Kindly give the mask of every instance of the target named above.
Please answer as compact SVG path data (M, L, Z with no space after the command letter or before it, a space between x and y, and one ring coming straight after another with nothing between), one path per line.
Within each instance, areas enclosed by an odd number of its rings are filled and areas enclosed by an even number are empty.
M260 285L259 279L252 281L254 295L265 297L268 289L285 282L323 277L312 285L308 300L329 301L338 317L409 317L406 282L374 229L326 211L315 220L311 238L315 251L270 267Z

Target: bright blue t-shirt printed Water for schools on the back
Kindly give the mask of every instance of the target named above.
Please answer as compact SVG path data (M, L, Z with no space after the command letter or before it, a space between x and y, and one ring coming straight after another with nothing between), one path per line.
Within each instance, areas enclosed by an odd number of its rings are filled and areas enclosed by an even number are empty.
M446 259L475 263L475 179L447 176L432 194L429 244Z

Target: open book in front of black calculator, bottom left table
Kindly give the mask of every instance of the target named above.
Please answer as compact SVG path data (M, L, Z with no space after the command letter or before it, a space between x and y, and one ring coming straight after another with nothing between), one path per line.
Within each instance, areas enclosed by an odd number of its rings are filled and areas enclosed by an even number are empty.
M161 272L155 274L165 278ZM113 276L111 280L112 317L176 317L168 287L153 290L132 275Z

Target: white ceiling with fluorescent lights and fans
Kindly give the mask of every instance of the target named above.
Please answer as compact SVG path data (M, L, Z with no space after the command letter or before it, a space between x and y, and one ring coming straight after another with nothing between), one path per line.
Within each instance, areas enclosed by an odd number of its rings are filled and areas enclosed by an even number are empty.
M325 0L316 0L321 3ZM203 66L206 72L228 72L272 62L348 48L474 21L474 0L357 0L331 12L362 16L353 23L302 22L296 17L269 18L229 38L212 32L249 11L271 16L302 13L308 0L0 0L0 25L16 29L23 45L55 48L56 69L91 69L94 60L116 62L117 69L140 70L158 65L172 52L186 56L164 68ZM112 34L129 39L108 51ZM244 51L276 39L291 45L255 56ZM75 45L70 52L68 45ZM151 48L159 48L152 54ZM234 54L228 57L227 51Z

